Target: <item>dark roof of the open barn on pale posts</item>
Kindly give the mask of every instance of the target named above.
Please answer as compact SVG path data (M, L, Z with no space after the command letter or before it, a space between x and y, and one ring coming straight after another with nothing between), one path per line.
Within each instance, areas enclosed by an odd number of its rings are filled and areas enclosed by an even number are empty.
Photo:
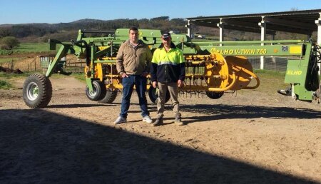
M199 16L186 18L190 24L198 26L217 27L223 22L224 29L260 33L258 23L265 21L267 34L275 31L285 31L297 34L311 35L317 31L315 20L321 19L321 9L303 11L282 11L263 14L239 14L225 16Z

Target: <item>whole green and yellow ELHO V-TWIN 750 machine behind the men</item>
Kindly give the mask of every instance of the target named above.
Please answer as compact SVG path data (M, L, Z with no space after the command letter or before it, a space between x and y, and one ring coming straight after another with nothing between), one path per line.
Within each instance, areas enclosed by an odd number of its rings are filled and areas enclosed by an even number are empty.
M152 53L161 45L160 30L139 31L141 40ZM27 106L43 108L51 101L52 87L49 80L63 56L73 53L86 60L86 96L91 101L112 103L122 90L122 78L116 71L116 55L121 44L128 39L128 29L109 31L78 31L76 41L64 44L49 40L50 48L60 48L46 74L31 74L24 82L23 96ZM291 88L279 91L300 101L320 98L320 81L317 63L320 53L317 44L305 41L225 41L192 42L185 34L172 34L175 46L181 48L186 61L185 85L182 93L202 94L217 99L225 92L254 89L260 85L258 76L245 56L291 56L287 63L285 82ZM223 46L220 46L223 44ZM266 44L261 46L261 44ZM148 76L149 78L149 76ZM253 83L250 83L253 81ZM252 86L250 86L250 84ZM156 88L148 83L148 96L157 99ZM169 96L167 96L167 101Z

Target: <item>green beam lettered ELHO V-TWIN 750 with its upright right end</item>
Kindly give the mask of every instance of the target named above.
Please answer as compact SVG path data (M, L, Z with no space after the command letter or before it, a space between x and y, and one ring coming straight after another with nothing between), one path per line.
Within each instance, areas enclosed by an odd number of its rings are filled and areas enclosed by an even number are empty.
M262 45L264 44L264 45ZM291 95L300 101L320 97L320 48L317 44L300 40L194 42L195 50L220 53L223 56L287 56L285 83L292 87ZM220 46L223 45L223 46ZM320 93L320 92L319 92ZM320 95L320 94L319 94Z

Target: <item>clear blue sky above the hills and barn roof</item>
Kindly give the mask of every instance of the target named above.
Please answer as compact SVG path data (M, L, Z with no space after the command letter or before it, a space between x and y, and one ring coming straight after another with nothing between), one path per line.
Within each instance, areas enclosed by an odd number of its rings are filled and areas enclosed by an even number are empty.
M321 9L320 0L5 0L0 24L68 23L80 19L170 19Z

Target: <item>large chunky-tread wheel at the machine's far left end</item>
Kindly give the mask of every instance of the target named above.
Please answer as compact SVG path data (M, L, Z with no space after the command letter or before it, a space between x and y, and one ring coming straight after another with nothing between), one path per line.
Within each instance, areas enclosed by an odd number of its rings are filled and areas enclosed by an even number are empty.
M44 108L52 96L52 86L49 78L40 73L31 74L22 90L24 103L31 108Z

